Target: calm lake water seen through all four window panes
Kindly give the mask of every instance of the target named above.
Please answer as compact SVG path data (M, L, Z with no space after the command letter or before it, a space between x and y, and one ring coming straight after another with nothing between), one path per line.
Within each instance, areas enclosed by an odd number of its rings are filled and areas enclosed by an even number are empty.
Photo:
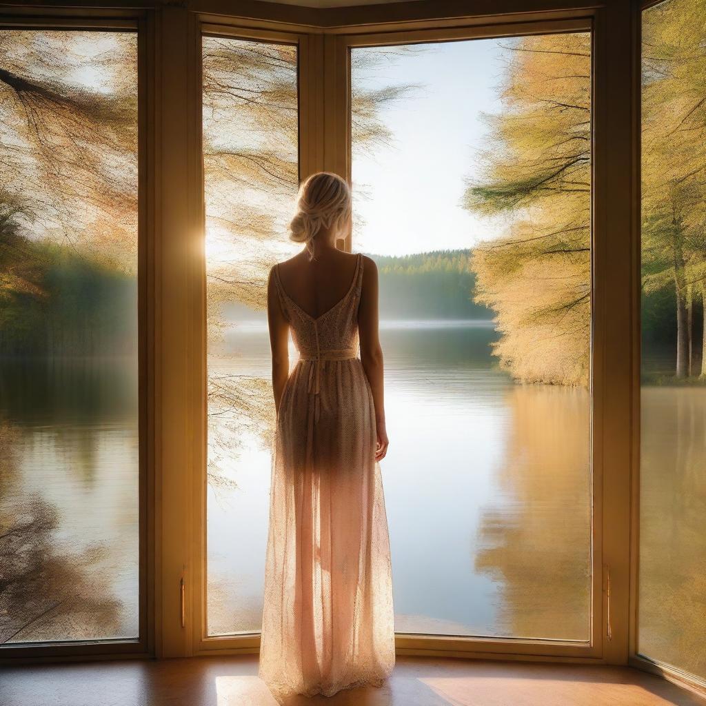
M487 323L388 322L381 335L397 630L587 638L587 393L513 384L489 355ZM263 325L232 330L215 353L212 376L250 406L211 420L212 634L259 628L271 410ZM121 361L0 366L0 520L34 523L23 556L37 562L42 600L64 600L14 640L137 633L135 389ZM697 674L705 397L688 387L642 395L641 644L682 665L691 655ZM5 614L0 628L6 639L16 626Z

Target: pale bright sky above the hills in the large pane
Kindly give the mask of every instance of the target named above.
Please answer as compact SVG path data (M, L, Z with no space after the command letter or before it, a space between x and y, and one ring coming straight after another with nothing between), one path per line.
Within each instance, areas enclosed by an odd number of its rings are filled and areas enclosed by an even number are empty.
M482 114L501 112L499 87L508 40L417 45L373 68L353 63L355 88L413 84L412 95L383 107L393 133L374 155L353 150L357 230L354 250L405 255L469 248L497 237L501 224L462 208L467 179L487 147ZM384 49L353 49L381 52Z

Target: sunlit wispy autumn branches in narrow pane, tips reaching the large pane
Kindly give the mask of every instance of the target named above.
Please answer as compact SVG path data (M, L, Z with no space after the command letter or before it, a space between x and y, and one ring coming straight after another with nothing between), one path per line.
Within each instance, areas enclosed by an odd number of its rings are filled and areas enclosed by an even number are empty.
M352 61L375 71L394 55L366 52ZM354 90L357 149L387 143L381 107L411 88ZM263 309L270 267L298 249L286 238L299 186L296 47L205 37L203 119L209 323L217 330L223 304Z

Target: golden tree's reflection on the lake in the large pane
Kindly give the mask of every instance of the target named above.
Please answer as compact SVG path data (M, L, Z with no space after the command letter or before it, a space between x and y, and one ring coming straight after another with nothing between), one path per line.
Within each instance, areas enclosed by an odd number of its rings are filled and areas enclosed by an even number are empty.
M493 469L477 570L502 586L496 630L526 638L589 638L591 485L589 395L515 385Z

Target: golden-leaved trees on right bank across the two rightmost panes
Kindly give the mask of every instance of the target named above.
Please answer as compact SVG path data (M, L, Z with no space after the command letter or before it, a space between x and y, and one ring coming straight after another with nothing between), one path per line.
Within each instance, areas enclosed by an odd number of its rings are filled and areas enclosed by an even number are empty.
M674 378L704 378L706 1L644 13L643 345L669 345ZM591 325L591 55L583 33L508 40L503 110L486 116L483 174L465 207L502 215L474 249L477 301L515 379L587 385Z

